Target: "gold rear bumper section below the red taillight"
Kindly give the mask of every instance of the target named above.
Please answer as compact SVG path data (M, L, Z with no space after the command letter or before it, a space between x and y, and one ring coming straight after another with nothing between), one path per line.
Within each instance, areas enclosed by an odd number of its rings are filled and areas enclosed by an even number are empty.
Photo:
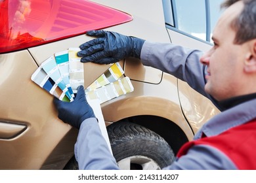
M53 96L30 79L35 69L27 50L0 55L0 125L12 131L0 137L0 169L40 169L71 129L58 120ZM25 128L15 132L16 125Z

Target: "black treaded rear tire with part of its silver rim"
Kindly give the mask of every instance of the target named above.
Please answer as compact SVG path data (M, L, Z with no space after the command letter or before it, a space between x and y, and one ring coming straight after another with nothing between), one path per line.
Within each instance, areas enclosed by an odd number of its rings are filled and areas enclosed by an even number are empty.
M130 122L117 122L107 129L112 152L121 169L120 163L125 161L123 159L130 161L130 167L123 169L162 169L171 165L175 159L169 144L146 127ZM146 163L156 163L158 167L145 167Z

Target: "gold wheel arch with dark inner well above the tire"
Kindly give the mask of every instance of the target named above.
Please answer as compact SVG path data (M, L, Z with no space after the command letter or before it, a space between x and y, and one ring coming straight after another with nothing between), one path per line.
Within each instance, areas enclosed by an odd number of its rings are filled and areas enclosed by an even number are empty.
M125 120L158 133L173 148L175 154L182 144L194 137L179 103L160 97L123 97L103 105L102 112L106 122Z

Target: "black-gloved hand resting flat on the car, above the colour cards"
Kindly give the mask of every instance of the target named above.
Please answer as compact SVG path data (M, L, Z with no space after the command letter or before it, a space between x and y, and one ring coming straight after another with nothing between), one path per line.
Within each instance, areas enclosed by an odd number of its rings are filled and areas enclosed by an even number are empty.
M88 31L87 35L98 37L81 44L77 56L81 62L116 63L127 57L140 58L143 39L128 37L110 31Z

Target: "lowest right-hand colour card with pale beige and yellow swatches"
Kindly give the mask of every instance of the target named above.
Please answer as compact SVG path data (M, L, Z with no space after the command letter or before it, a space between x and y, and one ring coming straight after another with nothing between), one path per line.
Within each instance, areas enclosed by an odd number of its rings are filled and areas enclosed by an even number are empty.
M121 95L125 95L126 93L133 92L133 90L134 88L129 77L124 77L106 86L85 92L85 95L87 99L98 99L101 104Z

